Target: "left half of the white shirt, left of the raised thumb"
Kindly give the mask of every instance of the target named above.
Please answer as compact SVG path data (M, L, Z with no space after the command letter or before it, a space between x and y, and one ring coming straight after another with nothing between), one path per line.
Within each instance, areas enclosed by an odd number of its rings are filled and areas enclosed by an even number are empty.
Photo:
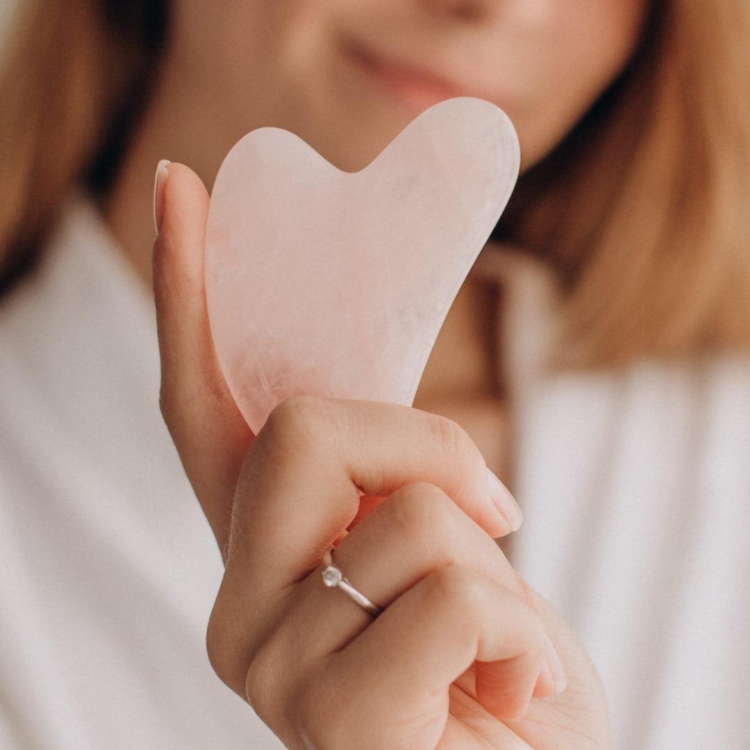
M221 561L153 318L86 205L0 307L3 750L282 746L205 655Z

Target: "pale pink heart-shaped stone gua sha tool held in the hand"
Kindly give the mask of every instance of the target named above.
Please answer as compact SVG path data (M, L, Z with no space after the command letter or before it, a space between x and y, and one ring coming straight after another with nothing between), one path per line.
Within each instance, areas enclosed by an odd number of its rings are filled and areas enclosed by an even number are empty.
M292 395L412 403L518 165L505 113L471 98L420 115L361 172L272 127L229 152L205 288L221 368L254 433Z

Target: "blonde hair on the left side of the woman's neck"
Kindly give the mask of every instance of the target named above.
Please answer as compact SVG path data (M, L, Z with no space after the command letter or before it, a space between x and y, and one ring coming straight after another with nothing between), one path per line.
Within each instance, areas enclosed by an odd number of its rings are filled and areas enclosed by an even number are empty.
M163 43L156 0L24 0L0 76L0 293L71 192L106 187Z

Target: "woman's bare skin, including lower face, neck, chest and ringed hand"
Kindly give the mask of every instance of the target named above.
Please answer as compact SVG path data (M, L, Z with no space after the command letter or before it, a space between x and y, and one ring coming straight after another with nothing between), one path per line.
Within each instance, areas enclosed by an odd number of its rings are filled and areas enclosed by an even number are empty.
M144 185L161 157L196 169L173 163L156 196L161 404L225 554L211 661L291 748L603 748L607 712L577 641L490 538L507 529L481 452L455 422L297 399L254 440L208 332L201 180L210 184L233 142L266 124L359 169L451 95L500 104L528 167L622 69L645 5L175 2L163 76L107 217L150 278ZM458 380L428 372L438 407L462 390L487 403L486 306L471 297L460 297L446 331L480 330L469 347L475 368ZM439 359L463 339L439 340ZM386 500L345 535L361 492ZM323 552L343 535L336 561L386 607L374 622L320 583Z

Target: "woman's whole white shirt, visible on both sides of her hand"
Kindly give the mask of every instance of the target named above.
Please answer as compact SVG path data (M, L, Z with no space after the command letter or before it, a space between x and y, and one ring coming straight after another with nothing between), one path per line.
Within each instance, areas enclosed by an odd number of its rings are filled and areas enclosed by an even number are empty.
M750 362L548 374L503 258L520 571L601 671L615 750L745 750ZM0 747L278 748L203 646L221 575L157 408L153 305L86 205L0 307Z

